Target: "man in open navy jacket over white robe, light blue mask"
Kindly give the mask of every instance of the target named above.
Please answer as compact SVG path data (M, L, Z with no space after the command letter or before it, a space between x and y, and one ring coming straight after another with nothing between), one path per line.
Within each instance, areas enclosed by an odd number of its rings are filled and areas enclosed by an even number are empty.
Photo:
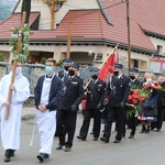
M43 162L52 153L53 139L56 129L56 111L62 96L63 82L55 75L56 61L46 59L45 75L37 80L34 100L37 109L37 130L41 148L37 158Z

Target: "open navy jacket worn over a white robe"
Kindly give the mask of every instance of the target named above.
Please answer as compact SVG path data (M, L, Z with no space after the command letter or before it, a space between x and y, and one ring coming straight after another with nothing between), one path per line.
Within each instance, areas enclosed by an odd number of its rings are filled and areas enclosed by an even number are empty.
M41 76L37 79L37 82L34 89L34 101L35 101L36 108L40 105L44 79L45 79L45 75ZM48 105L46 105L46 108L50 109L50 111L57 110L58 105L59 105L59 99L62 96L62 89L63 89L62 80L56 75L54 75L52 79L52 84L51 84L51 89L50 89Z

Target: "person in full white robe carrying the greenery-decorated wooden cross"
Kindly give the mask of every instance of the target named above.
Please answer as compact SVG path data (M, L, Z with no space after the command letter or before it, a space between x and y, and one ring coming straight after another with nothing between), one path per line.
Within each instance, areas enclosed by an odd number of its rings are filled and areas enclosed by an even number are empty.
M11 63L11 68L14 61ZM11 85L12 70L0 81L1 141L6 150L4 162L10 162L15 150L20 150L21 113L23 102L30 97L29 80L22 75L21 63L18 63L14 84ZM12 90L11 103L8 102L9 88ZM4 119L6 109L9 118Z

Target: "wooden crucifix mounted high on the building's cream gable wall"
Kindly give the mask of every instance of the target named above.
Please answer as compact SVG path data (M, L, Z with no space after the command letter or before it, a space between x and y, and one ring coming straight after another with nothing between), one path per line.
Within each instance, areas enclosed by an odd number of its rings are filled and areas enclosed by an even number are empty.
M65 2L66 0L43 0L45 3L50 4L51 11L51 30L54 30L54 22L55 22L55 6L57 2Z

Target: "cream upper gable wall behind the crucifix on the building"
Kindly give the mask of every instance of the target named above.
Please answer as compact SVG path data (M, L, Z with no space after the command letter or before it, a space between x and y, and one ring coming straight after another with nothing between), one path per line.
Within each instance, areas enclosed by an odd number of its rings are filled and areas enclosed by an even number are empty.
M75 3L76 1L76 3ZM21 12L22 0L20 1L15 12ZM50 30L51 13L50 8L42 0L32 0L31 11L40 11L40 30ZM66 0L59 11L55 12L55 28L56 23L59 23L68 10L80 9L99 9L96 0Z

